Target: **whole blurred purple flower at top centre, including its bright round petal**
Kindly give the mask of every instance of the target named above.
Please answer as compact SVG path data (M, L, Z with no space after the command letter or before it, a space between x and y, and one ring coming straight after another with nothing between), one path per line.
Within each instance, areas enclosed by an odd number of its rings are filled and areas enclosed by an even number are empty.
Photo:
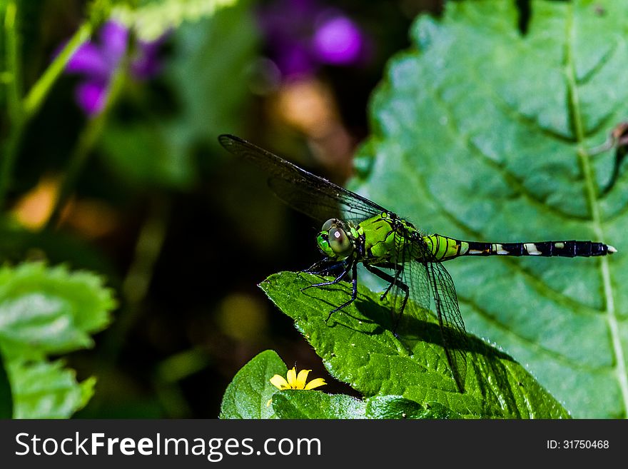
M322 64L365 58L365 36L353 20L315 0L278 0L260 11L270 55L286 77L313 74Z

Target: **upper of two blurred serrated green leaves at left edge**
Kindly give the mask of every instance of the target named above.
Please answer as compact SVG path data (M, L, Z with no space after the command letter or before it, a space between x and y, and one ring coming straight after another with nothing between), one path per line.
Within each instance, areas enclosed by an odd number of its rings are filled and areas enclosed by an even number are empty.
M6 360L41 360L93 346L116 302L88 272L42 263L0 268L0 349Z

